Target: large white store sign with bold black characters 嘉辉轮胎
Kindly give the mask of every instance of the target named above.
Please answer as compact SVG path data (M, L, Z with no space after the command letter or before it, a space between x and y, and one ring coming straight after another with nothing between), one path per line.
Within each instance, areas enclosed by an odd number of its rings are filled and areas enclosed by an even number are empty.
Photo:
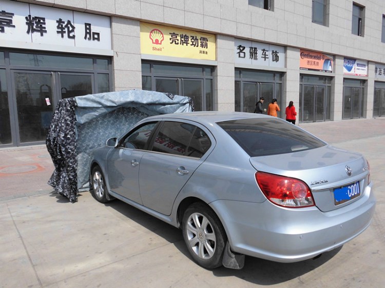
M106 16L0 0L2 47L112 55Z

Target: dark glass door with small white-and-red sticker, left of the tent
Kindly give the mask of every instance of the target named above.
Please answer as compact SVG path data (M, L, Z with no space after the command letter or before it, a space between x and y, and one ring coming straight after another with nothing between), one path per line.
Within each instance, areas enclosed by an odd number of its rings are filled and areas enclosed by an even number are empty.
M19 131L16 143L45 141L54 110L52 73L12 74Z

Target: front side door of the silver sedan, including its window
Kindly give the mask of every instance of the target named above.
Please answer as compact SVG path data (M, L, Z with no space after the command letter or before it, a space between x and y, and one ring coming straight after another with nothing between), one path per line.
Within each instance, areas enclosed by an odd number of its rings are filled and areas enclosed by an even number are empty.
M129 132L107 158L110 190L140 204L139 168L156 124L150 122Z

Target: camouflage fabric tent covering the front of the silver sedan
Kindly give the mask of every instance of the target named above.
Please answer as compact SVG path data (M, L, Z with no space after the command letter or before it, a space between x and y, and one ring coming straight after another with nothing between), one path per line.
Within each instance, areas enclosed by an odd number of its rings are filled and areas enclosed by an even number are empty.
M55 171L48 181L72 203L89 190L92 151L119 137L145 117L194 111L190 97L127 90L62 99L46 139Z

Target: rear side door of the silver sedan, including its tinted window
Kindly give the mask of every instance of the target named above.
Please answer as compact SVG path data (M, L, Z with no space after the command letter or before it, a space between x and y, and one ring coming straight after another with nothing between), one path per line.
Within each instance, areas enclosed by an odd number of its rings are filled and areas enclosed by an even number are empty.
M186 122L165 121L143 155L139 186L143 205L170 215L184 184L204 161L211 147L207 134Z

